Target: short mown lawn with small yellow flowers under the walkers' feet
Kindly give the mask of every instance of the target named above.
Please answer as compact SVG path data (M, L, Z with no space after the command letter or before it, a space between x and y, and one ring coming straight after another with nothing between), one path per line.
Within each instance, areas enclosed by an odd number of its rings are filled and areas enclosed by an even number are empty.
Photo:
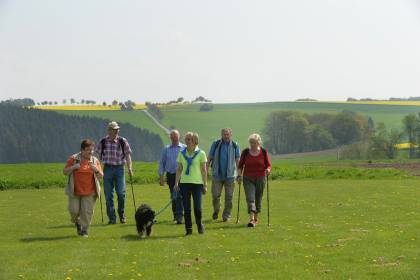
M168 199L166 187L135 192L155 209ZM102 225L98 203L79 238L61 189L3 191L0 279L419 279L418 197L418 180L271 182L270 227L265 200L256 228L244 201L238 225L211 221L207 194L204 235L184 237L166 211L139 240L131 195L128 224Z

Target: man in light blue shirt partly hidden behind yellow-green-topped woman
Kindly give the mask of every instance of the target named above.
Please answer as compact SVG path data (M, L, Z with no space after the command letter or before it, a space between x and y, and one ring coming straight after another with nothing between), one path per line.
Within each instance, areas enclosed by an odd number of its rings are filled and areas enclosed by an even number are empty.
M172 199L177 169L176 158L178 157L178 153L185 148L185 145L179 142L178 130L172 130L169 136L172 143L167 145L162 151L162 156L159 162L159 177L160 185L164 186L164 173L166 172L166 183L169 186ZM183 207L180 195L177 196L176 200L172 200L172 213L174 215L174 222L182 224Z

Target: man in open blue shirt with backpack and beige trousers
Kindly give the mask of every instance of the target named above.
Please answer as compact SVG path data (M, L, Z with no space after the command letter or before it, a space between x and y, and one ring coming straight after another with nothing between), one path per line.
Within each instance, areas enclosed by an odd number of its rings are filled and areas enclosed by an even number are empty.
M240 158L239 145L232 141L232 130L222 129L222 138L213 142L207 161L207 169L212 167L213 220L217 220L220 211L220 196L225 187L225 209L222 220L227 222L232 212L232 198Z

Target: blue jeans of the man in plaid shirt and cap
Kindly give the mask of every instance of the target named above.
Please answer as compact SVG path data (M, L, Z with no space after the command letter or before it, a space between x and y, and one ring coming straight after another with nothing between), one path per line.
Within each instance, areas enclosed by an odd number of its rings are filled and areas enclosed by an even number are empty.
M125 173L124 165L105 165L104 192L106 199L106 214L110 221L115 222L114 188L118 197L118 215L124 216L125 206Z

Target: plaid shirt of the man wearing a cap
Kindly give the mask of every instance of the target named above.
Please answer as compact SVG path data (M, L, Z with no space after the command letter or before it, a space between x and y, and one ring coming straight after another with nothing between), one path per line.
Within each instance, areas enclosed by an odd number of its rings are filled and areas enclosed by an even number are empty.
M124 141L124 153L119 143L119 138L121 138ZM102 142L104 139L105 145L103 147L102 153ZM126 163L124 154L131 154L131 148L130 144L128 144L127 139L125 139L124 137L118 136L117 138L112 140L109 136L106 136L105 138L102 138L101 141L99 141L99 144L96 147L96 153L98 154L99 159L103 164L124 165Z

